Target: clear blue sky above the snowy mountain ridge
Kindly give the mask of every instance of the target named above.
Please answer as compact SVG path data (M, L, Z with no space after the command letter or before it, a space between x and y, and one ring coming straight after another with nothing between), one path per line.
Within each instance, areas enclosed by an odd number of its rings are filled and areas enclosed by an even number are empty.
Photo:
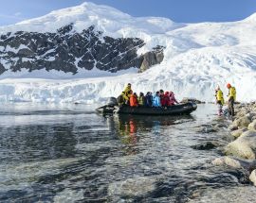
M0 0L0 25L45 15L54 9L85 0ZM161 16L174 22L226 22L245 19L256 12L256 0L90 0L132 16Z

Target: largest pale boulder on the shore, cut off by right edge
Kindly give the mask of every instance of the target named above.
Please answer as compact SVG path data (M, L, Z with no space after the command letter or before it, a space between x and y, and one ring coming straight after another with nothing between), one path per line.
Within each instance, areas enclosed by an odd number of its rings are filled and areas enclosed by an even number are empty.
M233 155L243 159L255 160L256 131L248 130L237 140L228 144L225 148L226 155Z

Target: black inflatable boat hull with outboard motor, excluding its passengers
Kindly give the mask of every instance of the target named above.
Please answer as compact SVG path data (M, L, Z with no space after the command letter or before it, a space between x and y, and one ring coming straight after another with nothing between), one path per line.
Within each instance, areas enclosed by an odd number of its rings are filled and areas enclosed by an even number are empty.
M115 98L112 98L112 103L98 108L101 113L119 113L119 114L137 114L137 115L181 115L190 114L197 109L195 103L189 102L186 104L178 104L166 108L149 108L149 107L130 107L123 105L115 106Z

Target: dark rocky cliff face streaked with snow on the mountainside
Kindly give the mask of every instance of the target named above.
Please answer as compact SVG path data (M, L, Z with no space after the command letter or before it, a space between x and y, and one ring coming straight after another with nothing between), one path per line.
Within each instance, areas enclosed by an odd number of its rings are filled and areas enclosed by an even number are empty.
M109 71L137 67L144 71L163 60L163 47L137 56L145 43L137 38L103 36L94 26L81 33L66 25L56 33L19 31L0 36L0 75L27 69L46 69L76 74L78 68Z

